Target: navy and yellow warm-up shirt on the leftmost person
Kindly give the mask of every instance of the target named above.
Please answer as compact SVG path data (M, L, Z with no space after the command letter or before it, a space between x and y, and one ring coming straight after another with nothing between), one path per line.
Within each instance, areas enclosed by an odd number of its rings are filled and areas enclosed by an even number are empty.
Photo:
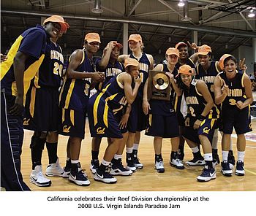
M45 47L48 40L50 38L47 36L45 29L39 25L29 28L18 36L7 54L7 61L1 63L1 90L4 89L8 95L17 96L13 61L16 53L20 51L29 55L24 70L24 97L26 97L30 82L45 58Z

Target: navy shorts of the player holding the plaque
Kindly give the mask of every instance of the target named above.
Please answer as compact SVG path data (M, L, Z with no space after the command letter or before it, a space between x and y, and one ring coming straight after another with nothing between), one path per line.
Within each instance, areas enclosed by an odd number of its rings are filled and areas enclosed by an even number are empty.
M149 114L146 135L173 138L180 136L176 113L170 115Z

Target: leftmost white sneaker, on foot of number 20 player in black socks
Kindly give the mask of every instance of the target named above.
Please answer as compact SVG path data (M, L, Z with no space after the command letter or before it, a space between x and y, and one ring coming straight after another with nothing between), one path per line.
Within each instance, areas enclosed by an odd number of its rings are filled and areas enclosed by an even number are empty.
M47 187L51 185L51 180L46 178L42 173L42 165L36 166L34 170L31 171L30 182L39 187Z

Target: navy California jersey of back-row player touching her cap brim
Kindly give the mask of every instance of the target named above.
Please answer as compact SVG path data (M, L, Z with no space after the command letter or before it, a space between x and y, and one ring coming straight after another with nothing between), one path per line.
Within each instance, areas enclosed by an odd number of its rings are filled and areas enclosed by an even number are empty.
M99 82L96 85L97 90L102 90L102 88L105 87L105 85L108 83L108 81L116 76L117 74L120 74L121 72L124 72L124 65L123 63L119 61L115 61L114 63L108 62L108 65L105 69L101 69L99 66L99 61L101 61L102 58L97 58L95 64L96 64L96 70L97 72L104 72L105 73L105 81Z

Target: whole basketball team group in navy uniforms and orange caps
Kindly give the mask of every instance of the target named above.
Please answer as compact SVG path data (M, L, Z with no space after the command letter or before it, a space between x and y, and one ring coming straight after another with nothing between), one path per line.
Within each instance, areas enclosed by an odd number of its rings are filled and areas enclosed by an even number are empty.
M129 35L129 55L121 55L123 45L110 41L102 58L94 58L101 39L90 32L83 47L64 63L58 39L68 28L64 18L53 15L42 26L24 31L8 54L1 54L1 188L30 190L20 171L23 128L34 131L31 183L50 186L48 177L57 176L76 185L90 185L80 165L87 117L92 137L90 171L95 181L116 183L116 175L129 177L143 169L138 158L142 133L154 137L154 168L159 173L165 172L162 139L170 138L170 166L203 166L198 182L214 180L217 164L226 177L244 176L244 134L252 131L249 111L253 101L244 61L230 54L214 61L208 45L178 42L156 65L152 55L143 53L140 34ZM189 49L194 53L191 56ZM153 83L151 74L162 75L155 75ZM159 94L168 86L167 99L153 98L152 86ZM90 93L92 89L96 93ZM57 155L59 134L69 137L64 168ZM219 151L218 134L222 135ZM99 158L103 137L108 138L108 147ZM185 143L192 151L190 161L184 161ZM43 171L45 146L49 165Z

